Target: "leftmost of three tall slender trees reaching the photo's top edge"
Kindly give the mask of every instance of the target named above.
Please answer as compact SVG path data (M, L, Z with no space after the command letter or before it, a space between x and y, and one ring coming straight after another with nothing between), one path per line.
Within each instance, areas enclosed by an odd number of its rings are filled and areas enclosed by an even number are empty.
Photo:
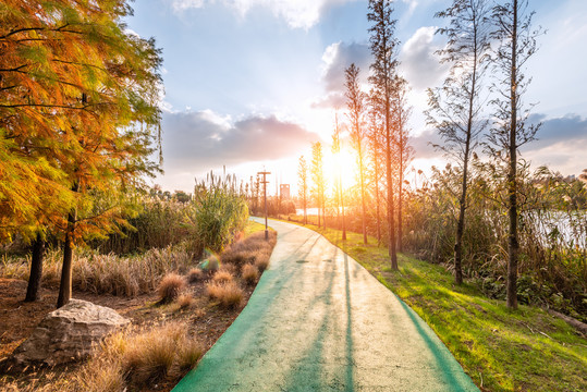
M389 234L389 256L391 268L398 269L398 255L395 249L395 218L393 207L393 175L391 167L391 144L392 144L392 115L391 99L393 89L393 78L396 74L398 39L394 37L395 23L392 19L393 9L389 0L369 0L369 13L367 20L372 22L369 27L369 42L374 63L371 64L372 75L369 77L374 89L381 96L384 118L384 149L386 149L386 177L387 177L387 203L388 203L388 234Z

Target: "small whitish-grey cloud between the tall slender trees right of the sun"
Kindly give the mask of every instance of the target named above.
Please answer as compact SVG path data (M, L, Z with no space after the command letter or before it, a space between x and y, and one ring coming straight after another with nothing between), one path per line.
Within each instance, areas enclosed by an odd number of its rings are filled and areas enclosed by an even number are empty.
M435 38L436 26L420 27L404 44L400 52L400 71L415 88L428 88L439 84L448 70L439 63L435 51L442 46Z

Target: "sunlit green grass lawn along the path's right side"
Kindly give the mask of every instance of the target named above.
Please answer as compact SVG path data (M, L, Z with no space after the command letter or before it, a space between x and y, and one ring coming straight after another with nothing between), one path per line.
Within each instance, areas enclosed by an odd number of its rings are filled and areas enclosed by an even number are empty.
M587 340L547 311L487 298L474 285L456 286L438 265L398 255L363 235L306 225L363 265L408 304L438 334L482 391L587 391Z

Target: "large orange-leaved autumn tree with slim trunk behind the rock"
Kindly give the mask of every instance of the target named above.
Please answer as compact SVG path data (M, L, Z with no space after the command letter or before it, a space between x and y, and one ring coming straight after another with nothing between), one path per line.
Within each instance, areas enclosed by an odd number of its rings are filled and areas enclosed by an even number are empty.
M2 148L11 140L13 161L45 169L20 183L39 186L22 208L35 218L17 220L61 233L58 307L71 296L74 245L124 225L125 191L156 170L148 156L160 136L161 60L152 40L125 33L130 12L123 0L61 0L7 1L0 13ZM44 184L56 191L41 193ZM1 197L19 204L10 193Z

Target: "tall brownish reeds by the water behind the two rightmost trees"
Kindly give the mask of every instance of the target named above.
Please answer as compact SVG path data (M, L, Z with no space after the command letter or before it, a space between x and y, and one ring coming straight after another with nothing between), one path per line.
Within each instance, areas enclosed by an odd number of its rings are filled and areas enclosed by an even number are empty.
M463 269L491 297L505 296L509 220L503 184L496 168L475 166L463 238ZM518 299L551 306L587 319L587 189L545 168L519 179ZM411 191L404 209L404 246L449 269L456 226L457 169L435 170ZM577 204L578 201L578 204Z

